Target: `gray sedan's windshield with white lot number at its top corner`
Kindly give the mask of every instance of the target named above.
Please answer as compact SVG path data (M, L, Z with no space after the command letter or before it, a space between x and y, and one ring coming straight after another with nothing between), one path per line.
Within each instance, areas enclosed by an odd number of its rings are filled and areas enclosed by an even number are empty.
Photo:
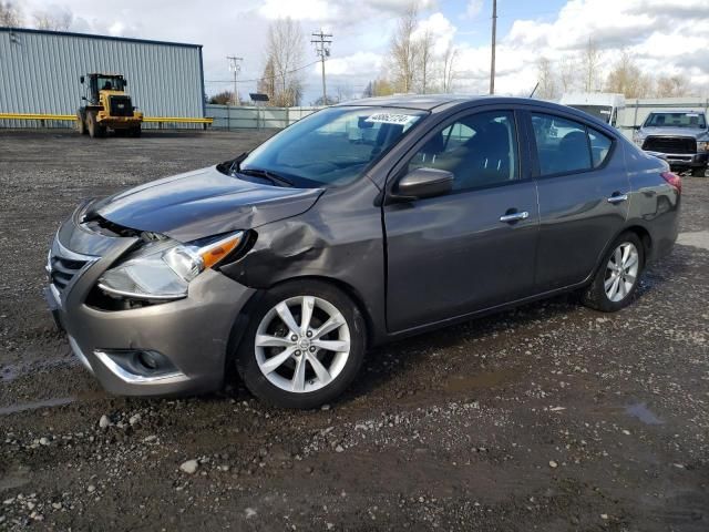
M361 176L425 112L337 106L296 122L254 150L243 172L268 172L296 186L333 186Z

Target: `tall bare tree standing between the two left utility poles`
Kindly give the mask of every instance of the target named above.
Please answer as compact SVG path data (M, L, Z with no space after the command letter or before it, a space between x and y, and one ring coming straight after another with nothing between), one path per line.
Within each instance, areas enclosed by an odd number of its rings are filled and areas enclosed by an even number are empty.
M296 69L305 55L305 37L300 24L291 18L278 19L268 28L266 64L273 63L274 104L297 105L302 96L302 81Z

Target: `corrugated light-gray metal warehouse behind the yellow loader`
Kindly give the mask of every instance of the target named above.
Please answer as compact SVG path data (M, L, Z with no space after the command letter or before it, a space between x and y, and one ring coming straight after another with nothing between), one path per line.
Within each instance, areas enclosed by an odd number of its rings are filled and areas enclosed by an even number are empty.
M75 115L83 95L79 79L89 72L123 74L145 116L204 117L201 44L0 28L0 113ZM3 127L39 125L0 120Z

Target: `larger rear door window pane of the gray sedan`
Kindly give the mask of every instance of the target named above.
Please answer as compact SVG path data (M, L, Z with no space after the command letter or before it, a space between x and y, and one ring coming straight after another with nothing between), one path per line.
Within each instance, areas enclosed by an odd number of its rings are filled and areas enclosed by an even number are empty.
M590 170L586 126L551 114L532 114L542 175Z

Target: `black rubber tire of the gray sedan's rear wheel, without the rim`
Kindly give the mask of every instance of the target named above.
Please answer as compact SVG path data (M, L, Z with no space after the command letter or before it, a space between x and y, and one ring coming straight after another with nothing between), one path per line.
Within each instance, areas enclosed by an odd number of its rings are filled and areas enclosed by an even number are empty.
M606 282L610 282L610 276L614 275L613 269L610 268L610 259L615 255L616 250L620 246L625 246L627 244L631 244L637 252L637 273L635 275L635 279L633 282L631 288L625 290L626 294L619 300L613 300L608 294L606 293ZM631 301L635 293L637 291L638 284L640 280L640 275L643 275L643 269L645 266L645 248L640 238L637 234L633 232L623 233L615 242L609 246L608 252L603 257L598 270L594 276L593 282L582 294L582 303L590 307L595 310L600 310L602 313L615 313L616 310L620 310L621 308L627 307ZM623 268L621 268L623 269ZM618 275L623 275L618 272ZM619 279L619 283L623 282ZM613 286L613 284L612 284ZM625 286L625 285L624 285ZM616 296L618 297L618 296Z

